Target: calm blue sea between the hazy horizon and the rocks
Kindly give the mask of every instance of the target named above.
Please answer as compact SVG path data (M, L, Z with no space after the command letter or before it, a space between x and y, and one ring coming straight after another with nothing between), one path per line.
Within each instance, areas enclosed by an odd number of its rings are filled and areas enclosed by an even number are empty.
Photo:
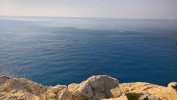
M107 74L177 81L177 20L0 17L0 74L44 85Z

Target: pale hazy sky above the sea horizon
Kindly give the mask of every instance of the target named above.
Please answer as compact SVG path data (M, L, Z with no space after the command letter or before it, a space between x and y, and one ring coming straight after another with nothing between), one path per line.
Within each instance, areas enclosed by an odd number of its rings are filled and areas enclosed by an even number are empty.
M177 0L0 0L0 16L177 19Z

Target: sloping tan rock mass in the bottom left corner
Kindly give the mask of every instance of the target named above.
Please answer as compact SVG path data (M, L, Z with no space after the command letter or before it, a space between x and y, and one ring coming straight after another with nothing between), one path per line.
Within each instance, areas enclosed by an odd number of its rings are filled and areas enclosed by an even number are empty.
M40 100L46 87L25 78L0 77L0 100Z

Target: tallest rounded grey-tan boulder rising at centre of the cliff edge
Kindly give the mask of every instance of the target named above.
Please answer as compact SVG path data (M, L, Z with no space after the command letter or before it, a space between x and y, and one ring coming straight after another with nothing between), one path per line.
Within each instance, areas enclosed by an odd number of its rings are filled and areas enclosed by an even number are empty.
M119 88L119 82L117 79L107 75L92 76L75 86L75 89L73 86L70 86L72 87L70 90L74 92L74 95L80 95L91 100L111 98L121 94L120 89L117 89L117 93L111 91L112 89Z

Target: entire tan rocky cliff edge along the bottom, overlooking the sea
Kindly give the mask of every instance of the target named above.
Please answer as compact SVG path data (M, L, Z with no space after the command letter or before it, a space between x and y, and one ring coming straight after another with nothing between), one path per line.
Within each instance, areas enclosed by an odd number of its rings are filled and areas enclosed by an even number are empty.
M177 82L167 87L145 82L120 84L99 75L80 84L43 86L25 78L1 76L0 100L177 100Z

